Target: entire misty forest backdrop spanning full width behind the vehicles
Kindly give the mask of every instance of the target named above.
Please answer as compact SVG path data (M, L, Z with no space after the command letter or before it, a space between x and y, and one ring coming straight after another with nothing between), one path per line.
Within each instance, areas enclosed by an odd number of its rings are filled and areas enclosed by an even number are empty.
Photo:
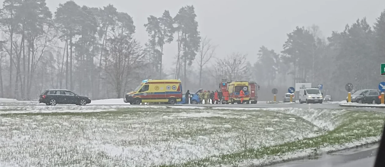
M45 0L4 0L0 12L4 98L32 100L50 88L92 99L122 98L144 79L181 79L184 90L195 92L218 89L219 82L228 79L257 82L260 100L270 98L272 88L286 93L296 82L323 84L324 93L343 100L348 82L357 90L377 88L383 81L385 11L374 25L363 16L327 38L319 35L317 25L293 27L282 41L282 52L256 46L254 64L238 51L216 55L220 46L209 34L201 36L196 21L200 16L192 5L177 13L164 9L148 16L144 25L136 25L114 5L94 8L75 1L60 4L52 13ZM134 38L139 28L146 29L147 43ZM168 67L164 48L171 45L177 50Z

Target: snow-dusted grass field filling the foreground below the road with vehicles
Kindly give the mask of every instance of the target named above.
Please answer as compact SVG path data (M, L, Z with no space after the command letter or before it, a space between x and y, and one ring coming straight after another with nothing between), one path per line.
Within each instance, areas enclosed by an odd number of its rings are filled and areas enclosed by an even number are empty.
M314 152L313 147L288 147L285 144L302 141L306 141L304 146L319 144L307 140L335 130L346 120L346 114L370 118L372 123L376 120L368 112L355 115L347 110L298 108L105 106L100 109L98 106L95 112L92 109L95 106L48 106L58 108L50 113L36 113L49 111L39 108L43 106L34 107L19 113L0 112L1 166L261 164ZM67 112L76 107L81 110ZM86 112L82 113L82 110ZM103 112L107 110L116 111ZM381 116L375 118L383 119ZM371 134L369 132L377 126L370 125L372 129L363 126L355 133ZM343 144L338 146L345 147ZM270 155L276 149L264 152L261 157L239 156L239 152L254 150L255 153L276 146L280 146L278 150L281 151L291 149L278 157ZM325 145L328 147L335 148ZM302 152L296 152L298 150Z

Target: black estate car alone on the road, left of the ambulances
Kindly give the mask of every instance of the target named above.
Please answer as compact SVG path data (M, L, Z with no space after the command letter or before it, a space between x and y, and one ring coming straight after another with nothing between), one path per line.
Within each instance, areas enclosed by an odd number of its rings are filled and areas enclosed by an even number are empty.
M91 103L91 99L85 96L79 96L74 92L66 89L50 89L45 90L39 98L39 103L45 103L46 105L56 104L75 104L86 105Z

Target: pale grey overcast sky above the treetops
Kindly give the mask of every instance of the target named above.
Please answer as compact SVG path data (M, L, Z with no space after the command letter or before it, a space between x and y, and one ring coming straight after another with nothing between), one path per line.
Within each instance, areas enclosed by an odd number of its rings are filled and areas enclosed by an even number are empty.
M67 0L47 0L54 13L59 3ZM208 36L219 45L217 57L231 52L249 55L255 62L259 47L264 45L282 50L286 34L296 26L320 26L323 36L331 31L343 31L357 18L367 17L372 24L385 9L385 0L74 0L78 5L103 7L109 3L134 19L136 38L144 44L147 33L143 24L149 15L161 16L169 10L175 16L184 5L194 5L201 36ZM165 65L172 65L177 47L165 46ZM171 68L169 66L169 68ZM173 67L174 68L174 67Z

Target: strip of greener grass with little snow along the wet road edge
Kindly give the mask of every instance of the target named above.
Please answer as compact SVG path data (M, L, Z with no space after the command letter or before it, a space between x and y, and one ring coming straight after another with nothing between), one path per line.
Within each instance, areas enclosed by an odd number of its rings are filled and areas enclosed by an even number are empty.
M164 164L159 167L201 167L237 164L243 162L243 160L261 159L264 156L279 156L304 149L317 150L326 146L359 141L367 137L377 137L382 134L385 115L377 112L348 111L336 118L341 120L339 126L314 138L285 142L276 146L245 149L231 154L189 160L181 164Z

